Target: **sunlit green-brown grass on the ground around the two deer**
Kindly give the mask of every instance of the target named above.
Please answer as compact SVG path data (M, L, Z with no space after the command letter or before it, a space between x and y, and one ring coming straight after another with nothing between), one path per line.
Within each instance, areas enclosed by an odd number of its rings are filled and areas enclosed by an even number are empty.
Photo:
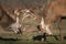
M37 25L36 24L36 21L29 21L29 22L23 22L24 25ZM63 20L63 35L66 36L66 21ZM54 31L55 34L58 33L57 30ZM26 33L26 34L14 34L14 33L11 33L11 32L4 32L4 31L0 31L0 36L1 37L4 37L4 38L19 38L16 41L12 41L12 40L8 40L8 41L4 41L4 40L0 40L0 44L66 44L66 40L64 41L56 41L53 36L51 37L47 37L47 41L33 41L32 40L32 36L35 35L35 33Z

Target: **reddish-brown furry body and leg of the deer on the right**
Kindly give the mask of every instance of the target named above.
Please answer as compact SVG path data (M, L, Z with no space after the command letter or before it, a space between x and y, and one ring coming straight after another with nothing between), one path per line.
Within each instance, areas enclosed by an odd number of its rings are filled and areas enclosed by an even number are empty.
M61 20L62 18L66 16L66 0L52 1L45 7L44 11L45 24L52 26L54 22L58 21L59 35L63 37L61 30Z

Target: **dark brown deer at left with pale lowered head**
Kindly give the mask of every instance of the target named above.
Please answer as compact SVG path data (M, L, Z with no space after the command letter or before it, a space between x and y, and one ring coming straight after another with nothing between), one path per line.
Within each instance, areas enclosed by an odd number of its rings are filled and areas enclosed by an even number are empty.
M10 11L12 12L10 7L4 9L2 8L2 6L0 6L0 21L2 21L3 23L0 23L0 25L4 28L4 30L10 26L14 33L21 33L21 31L19 30L21 25L19 24L18 10L13 10L14 13L11 13Z

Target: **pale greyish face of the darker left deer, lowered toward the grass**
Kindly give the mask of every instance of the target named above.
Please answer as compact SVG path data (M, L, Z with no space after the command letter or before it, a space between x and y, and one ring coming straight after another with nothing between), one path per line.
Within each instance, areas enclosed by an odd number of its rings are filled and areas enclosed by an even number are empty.
M19 24L19 23L13 23L9 28L15 34L20 34L21 33L21 24Z

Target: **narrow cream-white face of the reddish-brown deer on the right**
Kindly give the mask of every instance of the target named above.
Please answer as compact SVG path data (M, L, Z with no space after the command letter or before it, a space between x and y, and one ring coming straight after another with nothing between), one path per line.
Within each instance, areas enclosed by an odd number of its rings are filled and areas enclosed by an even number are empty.
M43 18L42 18L42 20L41 20L41 26L42 26L43 33L47 33L48 35L52 35L52 34L53 34L52 31L51 31L51 25L45 24Z

